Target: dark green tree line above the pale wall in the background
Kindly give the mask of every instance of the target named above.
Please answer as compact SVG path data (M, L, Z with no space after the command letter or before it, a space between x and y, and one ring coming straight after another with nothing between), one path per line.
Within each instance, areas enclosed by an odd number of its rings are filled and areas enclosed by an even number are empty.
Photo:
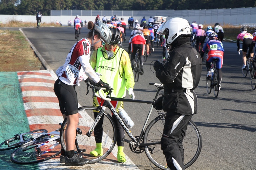
M50 10L184 10L256 7L255 0L0 0L0 14L35 15Z

